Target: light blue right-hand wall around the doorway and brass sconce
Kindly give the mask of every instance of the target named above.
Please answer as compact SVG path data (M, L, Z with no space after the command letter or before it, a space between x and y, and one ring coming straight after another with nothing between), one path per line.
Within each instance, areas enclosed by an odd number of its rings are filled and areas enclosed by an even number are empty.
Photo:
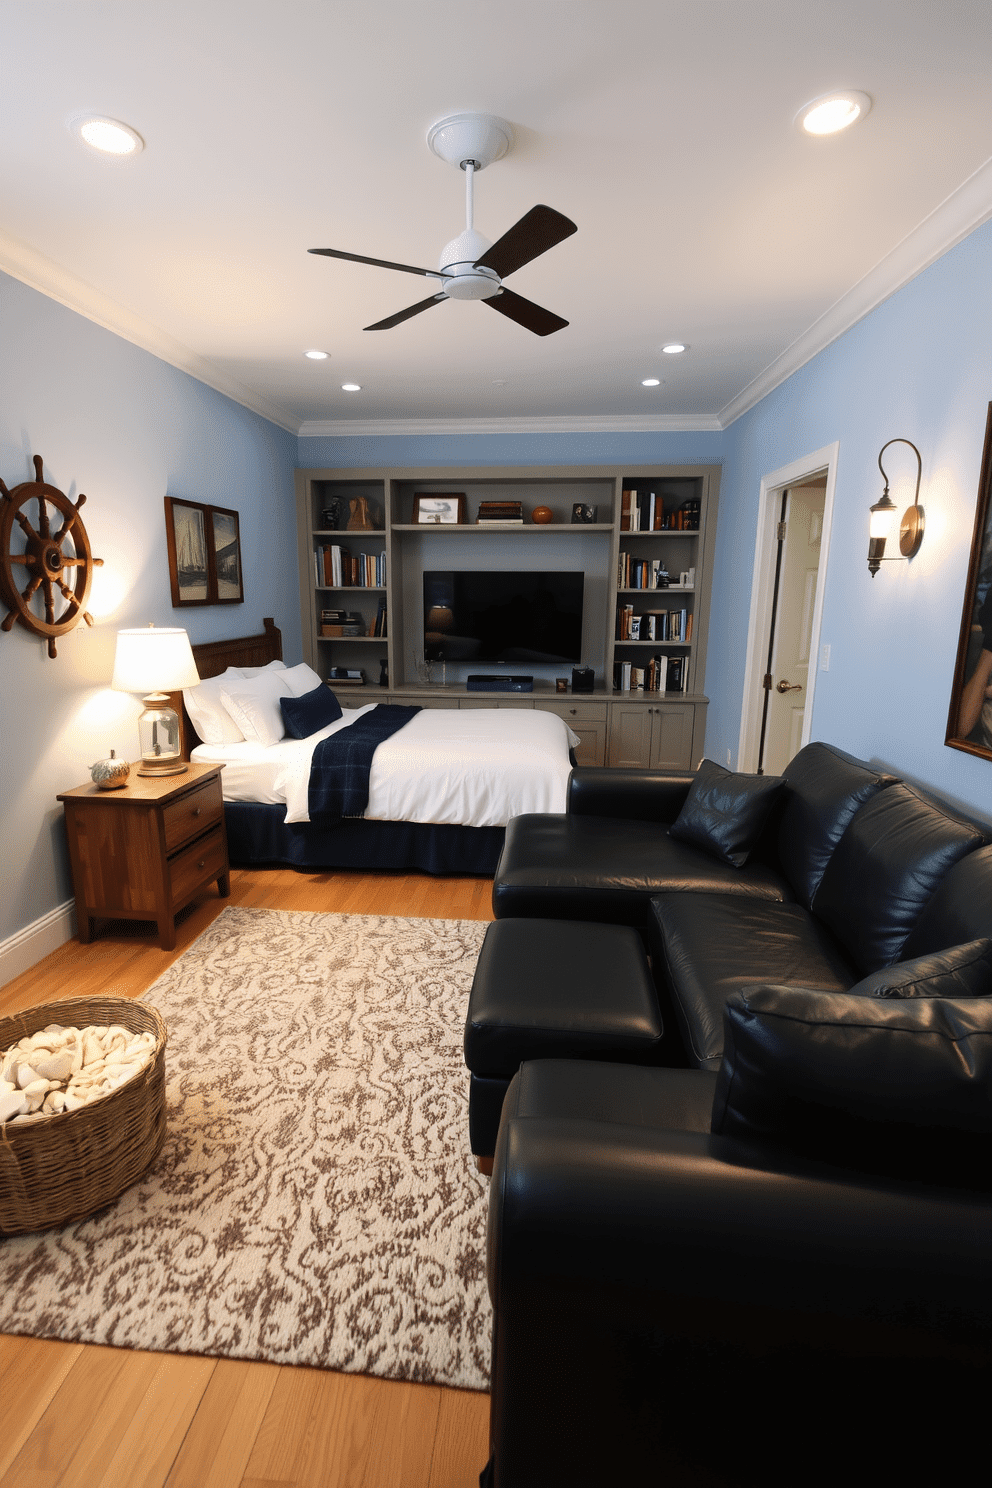
M821 634L830 671L817 677L812 737L992 820L992 765L943 743L989 399L992 223L730 426L706 667L711 757L727 748L736 757L760 481L837 440ZM883 564L872 579L869 506L882 494L877 454L894 437L921 451L927 533L910 562ZM915 481L910 449L888 451L886 470L897 469ZM913 481L892 484L900 510Z

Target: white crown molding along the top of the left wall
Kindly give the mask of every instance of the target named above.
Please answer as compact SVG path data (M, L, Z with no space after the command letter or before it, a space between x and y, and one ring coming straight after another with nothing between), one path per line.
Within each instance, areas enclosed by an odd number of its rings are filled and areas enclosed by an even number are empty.
M68 274L43 253L28 247L27 243L0 234L0 269L12 278L21 280L22 284L28 284L30 289L58 301L67 310L76 311L77 315L103 326L104 330L112 330L115 336L122 336L123 341L141 347L143 351L150 351L161 362L168 362L180 372L187 372L198 382L205 382L207 387L223 393L225 397L241 403L242 408L259 414L271 424L278 424L280 429L286 429L292 434L297 433L299 420L287 414L286 409L277 408L275 403L254 393L244 382L228 376L213 362L190 351L181 341L174 341L150 321L134 315L123 305L115 304L92 284Z

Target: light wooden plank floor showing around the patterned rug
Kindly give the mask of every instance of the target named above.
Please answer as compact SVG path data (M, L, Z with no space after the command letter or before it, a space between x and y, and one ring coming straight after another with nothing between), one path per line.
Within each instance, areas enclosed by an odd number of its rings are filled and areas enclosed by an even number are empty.
M175 951L117 923L0 988L0 1013L137 997L225 903L491 920L491 879L233 870ZM466 1155L466 1161L468 1155ZM489 1397L323 1369L0 1338L0 1488L476 1488Z

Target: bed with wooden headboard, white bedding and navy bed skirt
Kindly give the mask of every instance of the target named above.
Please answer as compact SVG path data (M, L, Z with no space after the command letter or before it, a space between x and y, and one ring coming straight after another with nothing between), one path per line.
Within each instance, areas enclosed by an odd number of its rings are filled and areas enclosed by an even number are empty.
M248 677L278 668L281 632L271 619L263 625L260 635L193 646L201 679L222 679L232 667ZM193 699L187 708L177 695L184 756L225 765L232 865L491 875L510 815L565 808L577 740L556 714L424 708L375 748L364 814L335 824L311 821L306 786L315 741L367 716L378 701L373 689L354 698L342 689L338 696L341 720L308 738L232 741L204 728L205 743L190 716Z

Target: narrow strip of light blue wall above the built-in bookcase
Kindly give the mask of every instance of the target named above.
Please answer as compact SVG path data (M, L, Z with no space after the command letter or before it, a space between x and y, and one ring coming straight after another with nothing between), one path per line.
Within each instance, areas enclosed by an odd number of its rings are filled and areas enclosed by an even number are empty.
M507 464L718 464L721 433L666 434L369 434L303 437L299 463L321 467Z

